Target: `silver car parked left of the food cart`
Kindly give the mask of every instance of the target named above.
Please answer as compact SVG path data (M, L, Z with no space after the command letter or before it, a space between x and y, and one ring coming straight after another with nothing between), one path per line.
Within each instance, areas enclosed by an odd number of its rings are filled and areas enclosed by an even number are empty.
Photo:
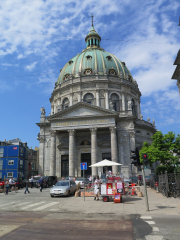
M62 180L50 189L50 196L70 196L76 192L76 183L73 180Z

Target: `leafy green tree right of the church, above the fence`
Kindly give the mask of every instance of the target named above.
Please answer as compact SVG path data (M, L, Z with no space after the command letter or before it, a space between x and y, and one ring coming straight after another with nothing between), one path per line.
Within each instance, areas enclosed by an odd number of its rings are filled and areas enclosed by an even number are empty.
M149 145L144 142L140 151L140 161L143 162L143 153L147 153L148 162L152 163L159 161L161 165L165 166L168 172L177 172L179 167L179 155L180 155L180 135L177 137L175 133L168 132L168 134L162 134L162 132L156 132L152 137L153 142Z

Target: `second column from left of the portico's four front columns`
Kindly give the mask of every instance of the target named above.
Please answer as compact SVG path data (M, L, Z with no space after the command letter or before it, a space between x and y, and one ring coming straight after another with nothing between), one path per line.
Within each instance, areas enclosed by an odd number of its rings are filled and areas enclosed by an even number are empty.
M69 132L69 176L75 176L75 139L74 133L75 130L68 130Z

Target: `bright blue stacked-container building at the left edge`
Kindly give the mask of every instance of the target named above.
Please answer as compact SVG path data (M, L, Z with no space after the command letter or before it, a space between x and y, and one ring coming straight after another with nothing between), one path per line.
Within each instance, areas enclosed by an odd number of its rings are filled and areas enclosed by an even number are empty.
M0 178L27 178L27 143L18 138L0 142Z

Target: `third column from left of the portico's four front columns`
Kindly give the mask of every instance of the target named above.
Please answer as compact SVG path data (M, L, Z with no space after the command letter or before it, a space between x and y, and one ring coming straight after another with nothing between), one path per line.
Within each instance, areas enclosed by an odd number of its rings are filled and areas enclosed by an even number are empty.
M97 128L91 128L91 165L97 162ZM92 167L92 176L97 175L97 168Z

